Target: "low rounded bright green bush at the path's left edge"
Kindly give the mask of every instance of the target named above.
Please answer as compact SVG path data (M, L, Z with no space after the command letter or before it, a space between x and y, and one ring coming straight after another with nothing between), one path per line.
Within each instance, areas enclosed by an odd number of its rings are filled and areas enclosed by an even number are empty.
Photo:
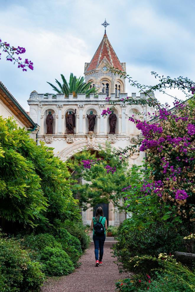
M40 252L41 268L45 275L61 276L74 271L74 265L67 253L59 247L45 247Z

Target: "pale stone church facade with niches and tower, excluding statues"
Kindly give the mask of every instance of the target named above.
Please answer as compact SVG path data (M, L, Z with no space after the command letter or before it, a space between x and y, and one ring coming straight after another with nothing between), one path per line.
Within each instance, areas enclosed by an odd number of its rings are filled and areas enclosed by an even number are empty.
M54 153L61 160L66 161L75 153L85 150L99 150L99 145L105 149L106 141L109 141L114 148L125 148L129 144L133 144L132 138L138 139L140 137L139 130L135 127L134 123L128 120L128 117L137 112L153 112L154 109L148 105L126 105L118 101L114 108L114 113L117 116L116 133L108 134L110 132L108 116L102 116L103 109L109 107L106 97L111 100L119 100L126 98L125 93L125 80L119 76L114 76L108 70L108 66L114 66L120 70L125 71L125 63L120 63L116 53L111 47L106 34L103 37L98 50L93 56L90 63L85 63L85 79L86 82L93 81L99 93L98 96L90 94L69 94L66 97L64 94L52 94L47 96L44 94L32 91L28 104L30 106L30 117L40 125L38 132L38 141L44 141L46 145L54 148ZM104 68L106 67L106 68ZM108 83L108 90L106 90L106 83ZM117 91L116 91L117 90ZM140 94L142 97L143 93ZM140 96L132 93L131 96L135 100L139 100ZM68 134L66 128L66 114L68 111L75 112L75 127L74 134ZM51 111L53 116L53 134L47 134L46 117L48 112ZM96 122L94 132L88 131L87 114L96 115ZM147 115L145 115L147 119ZM129 159L129 164L142 164L144 153L133 155ZM107 218L109 225L119 225L126 218L126 214L118 214L113 205L109 203L107 206ZM90 224L93 216L93 210L88 209L82 212L84 224Z

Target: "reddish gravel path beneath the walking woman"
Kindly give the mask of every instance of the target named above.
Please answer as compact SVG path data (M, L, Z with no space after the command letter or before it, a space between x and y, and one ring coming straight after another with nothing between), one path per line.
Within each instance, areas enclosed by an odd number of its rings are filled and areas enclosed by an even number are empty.
M128 275L119 274L117 265L111 257L113 242L104 243L103 265L95 267L94 243L81 257L82 265L74 273L56 279L49 279L44 283L43 292L114 292L115 282L127 278ZM96 284L98 283L98 284Z

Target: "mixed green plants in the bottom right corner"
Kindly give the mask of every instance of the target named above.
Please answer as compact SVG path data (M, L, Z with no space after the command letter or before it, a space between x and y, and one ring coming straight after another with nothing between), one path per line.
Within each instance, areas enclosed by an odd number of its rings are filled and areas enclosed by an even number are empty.
M194 292L195 274L181 263L177 263L172 256L160 254L158 258L142 256L131 258L136 265L142 264L143 259L158 262L161 267L153 275L143 273L133 275L131 279L124 279L116 283L121 292Z

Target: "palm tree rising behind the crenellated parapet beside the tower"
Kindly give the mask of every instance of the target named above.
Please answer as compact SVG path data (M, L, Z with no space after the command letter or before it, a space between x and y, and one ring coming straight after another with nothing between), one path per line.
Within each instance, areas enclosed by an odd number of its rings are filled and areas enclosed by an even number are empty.
M68 96L69 93L73 93L73 96L75 97L77 93L85 93L86 96L88 96L90 93L97 93L97 89L95 87L90 88L90 85L92 82L85 83L85 77L79 77L73 75L73 73L70 73L69 83L66 81L63 74L60 74L62 78L62 84L57 80L56 83L58 84L59 88L57 88L55 85L51 84L50 82L47 82L54 91L57 93L64 93L65 96ZM46 93L48 94L48 93Z

